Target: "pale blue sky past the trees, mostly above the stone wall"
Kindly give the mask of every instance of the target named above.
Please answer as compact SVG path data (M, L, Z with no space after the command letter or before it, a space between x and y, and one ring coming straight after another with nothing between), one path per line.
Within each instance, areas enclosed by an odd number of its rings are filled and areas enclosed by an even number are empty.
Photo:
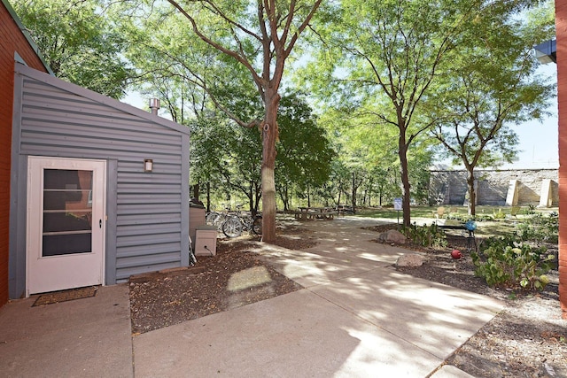
M553 63L541 65L539 72L557 80L557 66ZM148 109L149 98L142 98L136 93L129 93L123 103ZM517 161L499 166L499 169L537 169L559 167L559 123L557 120L557 98L554 97L548 107L551 115L540 121L529 121L514 127L519 144ZM159 113L162 115L162 113ZM164 114L165 115L165 114ZM444 164L445 166L445 164Z

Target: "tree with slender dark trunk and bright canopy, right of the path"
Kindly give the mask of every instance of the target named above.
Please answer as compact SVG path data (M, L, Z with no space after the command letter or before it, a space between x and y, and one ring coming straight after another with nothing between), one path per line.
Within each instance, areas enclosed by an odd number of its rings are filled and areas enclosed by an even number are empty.
M397 153L403 191L404 225L410 224L408 151L431 127L420 116L423 106L453 58L464 32L486 12L509 17L529 0L344 0L326 14L320 27L316 69L322 88L336 103L353 109L374 106L377 132L397 130ZM326 68L323 70L323 68ZM335 84L330 85L330 84Z

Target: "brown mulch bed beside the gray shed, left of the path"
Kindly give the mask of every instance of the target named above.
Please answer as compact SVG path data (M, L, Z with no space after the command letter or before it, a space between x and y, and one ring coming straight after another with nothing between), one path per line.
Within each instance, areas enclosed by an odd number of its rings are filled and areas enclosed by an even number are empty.
M130 280L132 331L142 334L215 312L280 296L302 286L246 251L245 238L219 240L216 256L189 269Z

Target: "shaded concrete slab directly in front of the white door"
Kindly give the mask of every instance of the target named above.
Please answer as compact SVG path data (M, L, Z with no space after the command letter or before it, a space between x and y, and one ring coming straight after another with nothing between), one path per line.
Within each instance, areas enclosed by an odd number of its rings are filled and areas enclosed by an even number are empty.
M132 376L128 285L54 305L35 299L0 308L0 377Z

